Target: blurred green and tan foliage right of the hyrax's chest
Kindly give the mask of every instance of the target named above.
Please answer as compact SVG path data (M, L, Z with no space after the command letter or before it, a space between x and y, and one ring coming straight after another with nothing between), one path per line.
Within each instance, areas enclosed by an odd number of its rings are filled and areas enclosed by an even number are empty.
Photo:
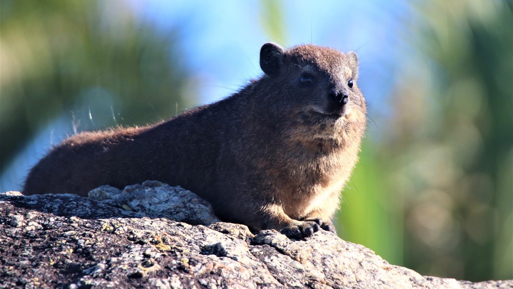
M413 52L344 191L342 237L424 275L511 279L511 2L412 8Z

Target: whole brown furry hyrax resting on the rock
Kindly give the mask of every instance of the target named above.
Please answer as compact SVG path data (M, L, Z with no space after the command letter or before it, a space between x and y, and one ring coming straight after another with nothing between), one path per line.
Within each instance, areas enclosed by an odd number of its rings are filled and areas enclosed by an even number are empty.
M155 179L253 230L334 231L366 123L356 53L267 43L260 66L263 77L219 102L148 127L66 139L32 169L24 193L86 196Z

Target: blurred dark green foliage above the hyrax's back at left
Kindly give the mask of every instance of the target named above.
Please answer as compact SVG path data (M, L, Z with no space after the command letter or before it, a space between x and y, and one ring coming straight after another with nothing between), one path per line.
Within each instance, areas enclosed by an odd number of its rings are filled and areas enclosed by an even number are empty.
M0 173L63 112L82 131L145 124L184 109L189 77L174 33L136 23L119 4L0 2Z

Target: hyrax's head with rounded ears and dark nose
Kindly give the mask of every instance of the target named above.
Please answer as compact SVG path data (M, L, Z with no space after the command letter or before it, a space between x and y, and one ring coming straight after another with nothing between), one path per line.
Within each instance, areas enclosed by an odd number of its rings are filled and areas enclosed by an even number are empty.
M283 50L266 43L260 50L260 67L272 79L272 91L282 98L276 100L280 107L274 107L280 113L330 121L348 119L354 110L365 114L354 52L345 54L316 45Z

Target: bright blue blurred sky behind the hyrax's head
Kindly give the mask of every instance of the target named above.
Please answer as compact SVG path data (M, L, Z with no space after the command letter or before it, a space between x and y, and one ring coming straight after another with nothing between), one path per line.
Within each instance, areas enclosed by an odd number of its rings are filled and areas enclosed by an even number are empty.
M401 19L408 16L406 3L395 0L283 1L286 39L280 40L264 31L260 1L131 3L142 21L154 23L163 33L181 25L187 64L204 78L203 103L224 98L260 76L260 47L269 41L283 46L312 42L356 50L361 60L360 86L381 101L401 45L397 31L403 25ZM375 85L376 81L380 85Z

